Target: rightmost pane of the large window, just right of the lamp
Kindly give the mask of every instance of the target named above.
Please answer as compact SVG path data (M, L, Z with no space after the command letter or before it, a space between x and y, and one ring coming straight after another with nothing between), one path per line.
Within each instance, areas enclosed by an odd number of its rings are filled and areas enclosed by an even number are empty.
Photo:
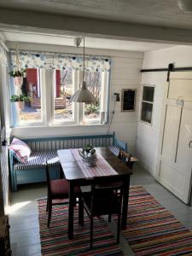
M98 123L101 119L101 92L102 92L102 73L89 72L86 73L86 84L90 92L96 97L96 103L84 104L84 123Z

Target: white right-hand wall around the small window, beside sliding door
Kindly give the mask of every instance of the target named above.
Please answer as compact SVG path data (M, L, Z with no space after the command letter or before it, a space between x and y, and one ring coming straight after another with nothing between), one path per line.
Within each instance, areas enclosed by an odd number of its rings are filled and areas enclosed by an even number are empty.
M143 69L168 67L192 67L192 46L175 46L145 53ZM166 86L166 72L143 73L142 84L155 84L153 124L139 121L137 131L137 157L144 168L154 175L160 143L161 110Z

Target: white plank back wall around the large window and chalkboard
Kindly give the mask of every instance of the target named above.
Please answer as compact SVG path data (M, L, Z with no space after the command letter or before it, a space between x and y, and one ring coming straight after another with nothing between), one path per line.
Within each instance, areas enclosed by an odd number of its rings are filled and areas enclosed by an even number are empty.
M20 49L34 49L46 51L58 51L66 53L82 53L82 49L45 45L45 44L19 44ZM15 48L15 44L9 42L9 48ZM136 151L137 119L138 119L138 96L141 84L140 70L143 64L143 53L116 51L105 49L86 49L86 54L108 55L112 58L111 82L110 82L110 109L112 112L114 92L121 93L122 89L137 89L137 104L135 112L120 111L121 102L116 103L115 114L110 131L115 131L116 136L128 143L129 151ZM107 133L108 125L90 126L52 126L14 128L12 135L15 137L41 137L57 135L99 134Z

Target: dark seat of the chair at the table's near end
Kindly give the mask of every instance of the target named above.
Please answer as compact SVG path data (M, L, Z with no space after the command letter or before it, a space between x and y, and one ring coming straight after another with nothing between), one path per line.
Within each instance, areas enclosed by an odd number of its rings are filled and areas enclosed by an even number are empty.
M83 193L84 206L87 211L91 212L91 192ZM94 216L115 214L119 212L119 199L112 190L106 192L99 189L96 192L96 200L94 201Z

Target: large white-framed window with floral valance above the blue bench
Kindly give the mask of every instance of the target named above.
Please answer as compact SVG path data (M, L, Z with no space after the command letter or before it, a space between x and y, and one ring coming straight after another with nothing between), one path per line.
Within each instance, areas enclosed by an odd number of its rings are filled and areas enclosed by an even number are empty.
M20 68L26 68L26 78L19 90L11 79L11 95L30 98L28 102L12 104L14 126L93 125L108 121L110 61L107 58L87 57L86 84L97 102L86 104L70 102L83 79L82 56L33 52L20 52L18 56L13 52L10 57L13 70L18 67L18 59Z

